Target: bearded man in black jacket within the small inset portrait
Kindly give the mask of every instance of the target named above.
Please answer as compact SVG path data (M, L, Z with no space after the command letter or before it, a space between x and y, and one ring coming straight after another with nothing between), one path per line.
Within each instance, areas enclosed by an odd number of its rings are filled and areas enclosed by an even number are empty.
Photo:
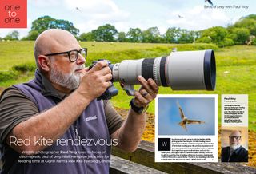
M248 151L241 145L241 132L234 130L229 140L230 146L222 148L222 162L248 162Z

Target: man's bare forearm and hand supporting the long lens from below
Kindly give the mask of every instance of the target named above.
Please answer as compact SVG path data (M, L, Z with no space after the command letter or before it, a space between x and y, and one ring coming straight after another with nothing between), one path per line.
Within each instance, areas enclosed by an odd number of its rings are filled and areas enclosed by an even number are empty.
M134 105L145 108L154 100L158 93L158 85L153 79L146 81L142 76L138 77L141 88L134 92ZM111 134L112 139L118 139L118 148L127 152L134 152L138 148L142 133L146 127L146 113L136 113L130 109L126 121L122 127Z

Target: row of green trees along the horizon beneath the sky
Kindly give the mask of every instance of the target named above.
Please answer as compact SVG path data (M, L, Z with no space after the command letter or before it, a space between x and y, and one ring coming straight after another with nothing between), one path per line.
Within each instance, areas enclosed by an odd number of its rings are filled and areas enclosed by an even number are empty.
M51 18L40 17L32 22L29 34L21 40L35 40L42 31L58 28L68 30L74 34L79 41L96 42L142 42L142 43L214 43L219 47L226 45L256 45L256 14L250 14L240 18L233 25L227 27L214 26L206 30L186 30L178 27L170 27L165 34L160 34L157 26L147 30L130 28L123 32L106 24L98 26L97 29L87 33L79 34L79 30L72 22ZM18 31L14 30L7 34L3 40L18 40Z

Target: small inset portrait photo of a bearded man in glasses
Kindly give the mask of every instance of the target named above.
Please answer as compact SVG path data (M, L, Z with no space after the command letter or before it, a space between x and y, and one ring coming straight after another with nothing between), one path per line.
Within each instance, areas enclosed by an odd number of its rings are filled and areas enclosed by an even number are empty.
M248 162L248 128L222 127L222 162Z

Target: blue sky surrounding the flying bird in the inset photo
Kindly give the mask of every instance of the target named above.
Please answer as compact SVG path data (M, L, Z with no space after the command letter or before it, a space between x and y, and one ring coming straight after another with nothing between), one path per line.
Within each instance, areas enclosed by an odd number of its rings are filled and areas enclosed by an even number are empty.
M187 131L178 125L182 118L178 111L181 105L185 117L205 121L204 124L186 125ZM158 134L159 135L214 135L214 98L176 98L159 97ZM217 116L216 116L217 117Z

